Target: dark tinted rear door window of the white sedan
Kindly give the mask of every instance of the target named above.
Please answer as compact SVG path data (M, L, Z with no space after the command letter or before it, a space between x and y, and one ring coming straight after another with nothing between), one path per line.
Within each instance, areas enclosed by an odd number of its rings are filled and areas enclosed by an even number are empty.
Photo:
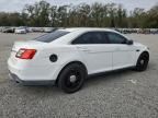
M109 44L109 39L104 32L89 32L79 36L72 44Z

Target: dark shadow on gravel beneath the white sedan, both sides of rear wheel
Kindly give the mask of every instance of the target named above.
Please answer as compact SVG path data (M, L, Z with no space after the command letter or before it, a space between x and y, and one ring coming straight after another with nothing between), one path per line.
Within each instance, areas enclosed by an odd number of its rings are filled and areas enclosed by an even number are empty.
M148 71L148 69L147 69L147 71ZM112 72L102 72L102 73L98 73L98 74L92 74L92 75L89 75L88 79L86 80L83 88L87 88L89 86L97 86L100 83L109 84L109 83L115 82L115 81L120 82L121 80L126 79L126 76L128 76L128 75L132 76L135 73L137 73L137 72L132 69L122 69L122 70L112 71ZM36 94L37 96L46 95L46 94L52 94L53 96L54 95L59 95L59 96L66 95L56 85L23 86L20 84L15 84L15 86L19 88L19 91L22 91L30 95L31 94Z

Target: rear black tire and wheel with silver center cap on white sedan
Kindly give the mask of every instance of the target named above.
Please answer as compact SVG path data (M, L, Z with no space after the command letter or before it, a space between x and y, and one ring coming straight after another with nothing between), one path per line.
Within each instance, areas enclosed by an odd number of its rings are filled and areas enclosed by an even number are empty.
M71 63L61 71L58 78L58 86L65 93L75 93L82 87L86 78L86 68L78 63Z

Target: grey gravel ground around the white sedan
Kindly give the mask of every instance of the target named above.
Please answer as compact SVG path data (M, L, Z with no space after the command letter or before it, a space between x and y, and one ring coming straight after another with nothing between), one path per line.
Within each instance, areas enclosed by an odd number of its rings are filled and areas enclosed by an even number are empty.
M0 118L158 118L158 35L128 35L150 47L147 71L92 76L75 94L9 80L7 59L13 42L38 35L0 34Z

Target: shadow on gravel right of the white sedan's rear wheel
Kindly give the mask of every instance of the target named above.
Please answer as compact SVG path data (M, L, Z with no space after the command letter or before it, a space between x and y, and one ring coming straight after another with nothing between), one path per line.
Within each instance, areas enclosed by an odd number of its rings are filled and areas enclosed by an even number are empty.
M124 80L127 80L127 78L135 79L134 75L137 73L143 74L144 72L146 73L147 71L153 71L153 70L157 70L156 66L155 63L149 62L147 70L143 72L138 72L132 68L128 68L128 69L121 69L121 70L115 70L115 71L110 71L110 72L92 74L92 75L89 75L88 79L86 80L84 86L87 87L87 85L91 86L91 85L95 85L100 83L109 84L110 82L115 82L115 81L122 82Z

